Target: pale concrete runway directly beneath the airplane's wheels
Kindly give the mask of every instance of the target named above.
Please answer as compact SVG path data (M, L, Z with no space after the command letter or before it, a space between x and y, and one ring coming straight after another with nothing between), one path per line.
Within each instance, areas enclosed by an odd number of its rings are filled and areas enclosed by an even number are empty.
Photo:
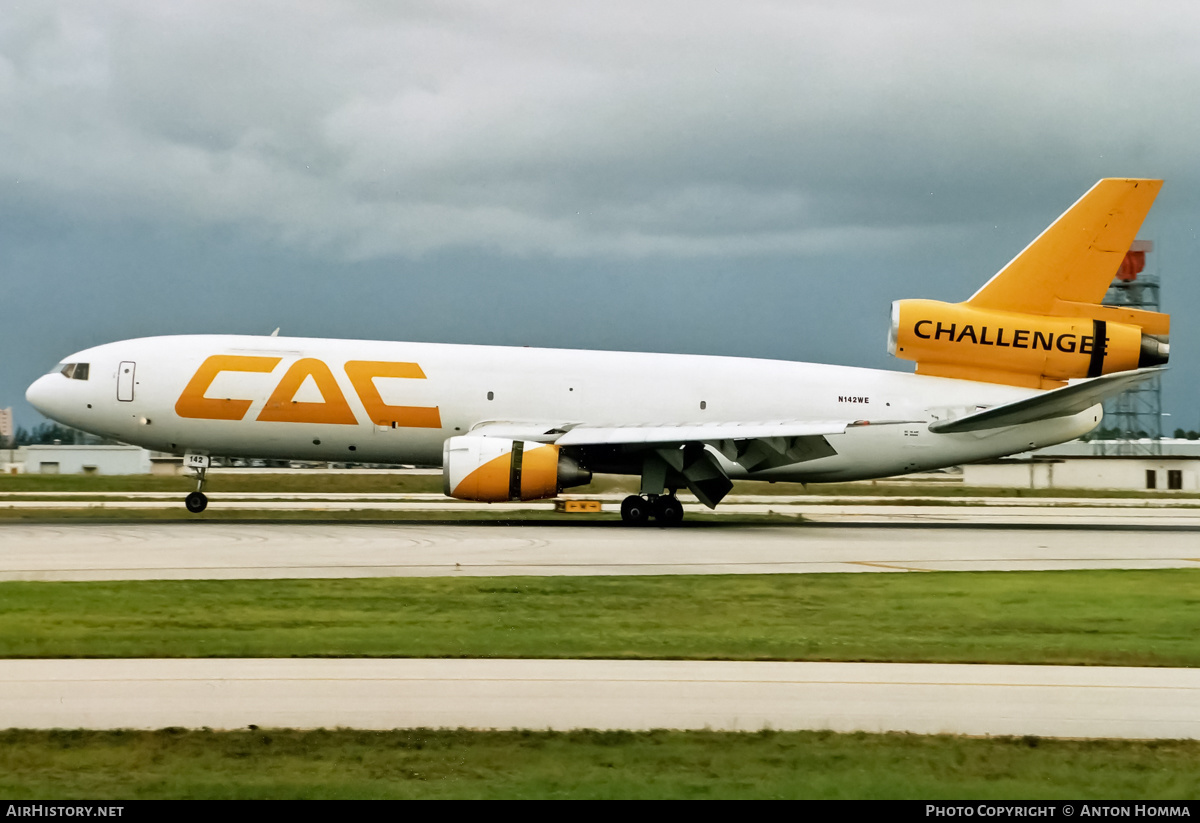
M894 509L894 507L887 507ZM894 512L904 517L904 512ZM0 524L0 579L236 579L496 575L724 575L1200 567L1200 529L721 522ZM1124 516L1122 516L1123 518Z

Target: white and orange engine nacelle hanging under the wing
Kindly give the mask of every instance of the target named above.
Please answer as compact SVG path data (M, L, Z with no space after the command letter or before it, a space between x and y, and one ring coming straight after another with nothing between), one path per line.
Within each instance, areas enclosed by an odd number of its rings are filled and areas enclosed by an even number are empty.
M502 503L554 497L592 473L553 444L466 434L445 441L442 479L448 497Z

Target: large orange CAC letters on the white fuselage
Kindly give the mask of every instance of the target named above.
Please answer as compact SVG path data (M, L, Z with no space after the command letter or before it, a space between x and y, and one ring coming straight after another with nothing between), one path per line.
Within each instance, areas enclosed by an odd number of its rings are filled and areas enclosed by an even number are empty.
M222 372L270 373L280 365L282 358L257 358L238 354L215 354L200 364L196 374L184 388L175 403L175 414L180 417L198 420L241 420L246 416L254 401L246 398L205 397L217 376ZM374 382L379 378L425 379L425 372L416 364L390 362L377 360L352 360L346 364L346 376L354 386L362 407L372 422L378 426L397 428L442 428L442 415L438 407L425 406L389 406ZM306 382L320 394L320 401L298 401L296 395ZM358 425L358 419L350 409L337 385L337 379L323 361L316 358L302 358L283 373L258 414L264 422L295 423L334 423L344 426Z

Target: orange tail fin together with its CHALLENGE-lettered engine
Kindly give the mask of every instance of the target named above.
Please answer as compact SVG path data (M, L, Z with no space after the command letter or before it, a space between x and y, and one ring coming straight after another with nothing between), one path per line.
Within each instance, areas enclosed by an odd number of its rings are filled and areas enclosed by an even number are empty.
M1165 364L1169 314L1103 305L1145 265L1134 238L1162 186L1100 180L966 302L892 304L888 349L918 374L1031 389Z

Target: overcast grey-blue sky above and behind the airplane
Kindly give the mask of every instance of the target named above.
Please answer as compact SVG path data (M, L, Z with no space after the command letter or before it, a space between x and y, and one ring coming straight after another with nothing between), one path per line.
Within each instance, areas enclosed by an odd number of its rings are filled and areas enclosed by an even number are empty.
M0 408L80 348L269 334L911 371L1104 176L1200 427L1194 2L0 0Z

